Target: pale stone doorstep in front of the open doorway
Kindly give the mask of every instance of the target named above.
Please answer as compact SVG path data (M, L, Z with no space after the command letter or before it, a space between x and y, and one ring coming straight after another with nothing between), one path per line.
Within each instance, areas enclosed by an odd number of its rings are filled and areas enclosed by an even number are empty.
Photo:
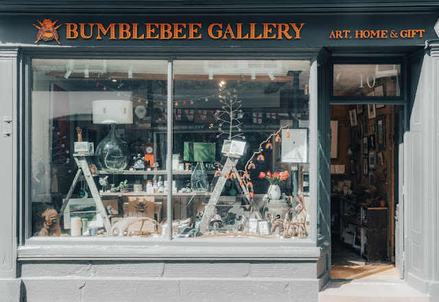
M405 281L330 281L318 294L319 302L428 302Z

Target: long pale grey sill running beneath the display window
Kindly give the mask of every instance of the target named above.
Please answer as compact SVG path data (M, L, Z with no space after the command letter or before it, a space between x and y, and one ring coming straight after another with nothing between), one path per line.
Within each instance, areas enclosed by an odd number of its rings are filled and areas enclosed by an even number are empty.
M321 249L305 239L30 238L19 261L36 260L271 260L317 261Z

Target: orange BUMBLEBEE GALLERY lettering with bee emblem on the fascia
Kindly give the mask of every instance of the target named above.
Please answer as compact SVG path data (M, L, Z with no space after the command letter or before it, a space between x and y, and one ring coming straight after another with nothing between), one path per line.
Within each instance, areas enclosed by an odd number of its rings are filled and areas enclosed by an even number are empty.
M39 40L58 41L58 33L50 19L45 19L37 35ZM43 24L43 23L40 23ZM305 23L211 23L207 36L222 40L294 40L300 39ZM65 23L67 39L146 40L146 39L201 39L201 23ZM41 29L43 28L43 29ZM42 34L43 32L43 34ZM58 41L59 42L59 41Z

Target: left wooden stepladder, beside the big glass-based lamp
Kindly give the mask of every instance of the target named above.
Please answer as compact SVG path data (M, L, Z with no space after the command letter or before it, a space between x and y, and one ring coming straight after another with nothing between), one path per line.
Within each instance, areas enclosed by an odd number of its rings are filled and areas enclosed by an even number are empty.
M84 174L85 180L87 181L88 184L88 188L90 188L91 195L93 197L93 200L95 201L96 210L98 214L100 214L102 217L102 221L104 222L104 227L108 232L108 235L112 236L110 219L108 218L107 211L104 207L104 203L102 203L101 196L99 195L99 190L97 190L95 181L93 180L93 175L91 175L90 168L88 168L89 164L91 164L91 162L88 162L89 161L88 159L91 158L92 156L95 156L95 154L92 153L73 154L73 158L75 159L75 162L78 165L78 172L76 172L75 178L73 179L73 183L70 186L69 192L67 192L67 196L64 199L64 202L62 203L62 207L58 216L61 217L64 214L64 210L67 207L67 204L69 203L71 195L73 194L73 190L75 189L76 184L78 184L78 179L80 178L81 174Z

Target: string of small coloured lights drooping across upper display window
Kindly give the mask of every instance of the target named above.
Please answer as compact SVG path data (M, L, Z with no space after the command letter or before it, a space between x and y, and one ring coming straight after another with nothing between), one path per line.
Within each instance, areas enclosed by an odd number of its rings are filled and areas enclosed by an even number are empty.
M95 86L96 87L101 87L102 86L103 90L110 90L110 91L113 91L113 92L117 92L117 96L118 97L120 97L121 95L123 95L124 97L130 97L130 98L132 97L133 99L137 99L137 102L141 103L142 101L144 101L146 104L148 104L151 101L151 100L149 100L147 98L134 97L132 95L129 95L126 92L121 92L119 90L116 90L115 88L112 88L110 86L102 84L101 82L99 82L99 81L97 81L95 79L91 79L91 81L95 82ZM195 99L182 99L182 100L178 100L178 101L173 101L173 103L174 103L175 106L178 106L180 104L184 106L184 105L187 105L188 103L193 105L195 102L197 102L197 103L201 103L202 101L208 102L209 98L212 98L212 97L220 97L221 98L224 93L230 95L230 92L237 92L237 88L239 88L241 86L244 86L244 85L247 85L248 83L250 83L250 81L244 81L243 83L240 83L240 84L238 84L237 86L235 86L233 88L224 89L225 82L224 81L220 81L219 82L220 88L219 88L219 92L218 93L215 93L213 95L206 95L204 97L198 97L198 98L195 98ZM154 94L152 94L152 95L154 96ZM158 95L156 95L156 96L158 96ZM162 95L160 95L160 96L162 96ZM157 103L157 101L154 101L154 104L156 104L156 103ZM163 105L165 105L165 103L167 103L167 101L160 101L159 105L163 106Z

